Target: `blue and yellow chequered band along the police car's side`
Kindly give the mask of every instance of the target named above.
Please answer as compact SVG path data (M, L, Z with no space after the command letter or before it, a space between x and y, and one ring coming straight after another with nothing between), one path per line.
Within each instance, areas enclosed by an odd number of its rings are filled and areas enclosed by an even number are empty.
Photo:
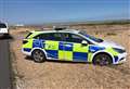
M63 41L27 39L28 43L23 44L24 51L30 52L34 48L44 49L48 58L66 61L92 62L92 54L99 50L105 50L118 55L112 48L102 48L98 46L82 46L81 43L72 43Z

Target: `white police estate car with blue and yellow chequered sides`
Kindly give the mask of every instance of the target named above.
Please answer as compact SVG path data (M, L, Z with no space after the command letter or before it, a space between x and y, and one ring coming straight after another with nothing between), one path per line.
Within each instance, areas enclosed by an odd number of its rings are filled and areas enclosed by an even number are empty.
M83 30L61 29L31 31L23 39L22 52L41 63L46 60L90 62L99 65L126 61L123 47L95 38Z

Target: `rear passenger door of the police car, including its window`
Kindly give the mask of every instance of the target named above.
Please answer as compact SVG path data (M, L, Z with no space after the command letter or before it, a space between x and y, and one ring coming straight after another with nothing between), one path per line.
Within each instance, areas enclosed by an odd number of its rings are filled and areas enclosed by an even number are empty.
M46 37L46 41L44 41L44 50L48 54L48 58L50 58L51 60L58 60L60 58L60 47L61 49L63 49L62 43L60 43L60 41L62 41L62 35L58 33L51 33L48 34L48 36ZM62 58L64 59L64 58Z

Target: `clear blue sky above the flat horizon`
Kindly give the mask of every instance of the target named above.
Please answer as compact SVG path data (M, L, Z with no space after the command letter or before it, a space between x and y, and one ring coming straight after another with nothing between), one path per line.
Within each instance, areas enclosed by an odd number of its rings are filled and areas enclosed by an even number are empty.
M130 18L130 0L0 0L0 21L42 24Z

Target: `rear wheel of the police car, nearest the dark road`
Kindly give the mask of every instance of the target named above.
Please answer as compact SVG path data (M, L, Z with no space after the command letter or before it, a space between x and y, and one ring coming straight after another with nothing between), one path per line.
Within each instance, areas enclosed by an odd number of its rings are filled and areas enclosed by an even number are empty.
M34 50L31 53L31 58L37 63L42 63L46 61L46 54L41 50Z

